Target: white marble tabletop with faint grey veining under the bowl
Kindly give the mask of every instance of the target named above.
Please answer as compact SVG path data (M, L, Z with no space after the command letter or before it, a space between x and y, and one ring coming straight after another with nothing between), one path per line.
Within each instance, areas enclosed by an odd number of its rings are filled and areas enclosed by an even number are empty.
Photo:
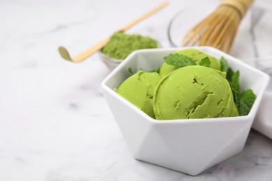
M101 92L110 70L97 54L77 64L59 56L59 45L75 55L160 2L0 1L0 180L271 180L272 141L253 129L239 155L194 177L133 159ZM169 2L128 32L169 47L170 19L202 1ZM269 17L272 3L259 0L254 7ZM271 36L262 33L271 28L267 20L255 26L259 52L252 50L252 13L233 52L248 60L272 55Z

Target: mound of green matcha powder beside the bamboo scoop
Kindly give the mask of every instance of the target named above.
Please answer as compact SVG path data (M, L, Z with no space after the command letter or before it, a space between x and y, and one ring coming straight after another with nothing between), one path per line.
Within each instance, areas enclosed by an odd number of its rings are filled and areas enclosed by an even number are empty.
M112 58L123 60L136 49L158 48L158 42L148 36L126 34L118 31L112 35L102 52Z

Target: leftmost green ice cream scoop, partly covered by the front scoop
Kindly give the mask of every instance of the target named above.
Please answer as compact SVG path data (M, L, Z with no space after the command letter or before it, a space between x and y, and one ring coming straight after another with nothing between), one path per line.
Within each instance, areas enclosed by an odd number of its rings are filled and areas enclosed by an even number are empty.
M139 70L139 72L123 81L117 88L116 93L144 111L147 115L155 118L153 112L153 92L158 81L160 81L160 74L157 72Z

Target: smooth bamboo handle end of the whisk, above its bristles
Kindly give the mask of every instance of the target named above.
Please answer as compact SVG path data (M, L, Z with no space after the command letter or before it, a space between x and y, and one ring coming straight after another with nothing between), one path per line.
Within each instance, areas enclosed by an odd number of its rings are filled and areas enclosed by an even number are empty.
M245 15L254 0L223 0L221 5L232 6L239 11L241 18Z

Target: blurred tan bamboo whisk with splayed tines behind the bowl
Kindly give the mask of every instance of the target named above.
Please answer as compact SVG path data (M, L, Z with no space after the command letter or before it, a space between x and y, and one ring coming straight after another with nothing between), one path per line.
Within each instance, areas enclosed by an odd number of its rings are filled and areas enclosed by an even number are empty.
M183 46L211 46L230 53L246 11L254 0L223 0L210 15L184 36Z

